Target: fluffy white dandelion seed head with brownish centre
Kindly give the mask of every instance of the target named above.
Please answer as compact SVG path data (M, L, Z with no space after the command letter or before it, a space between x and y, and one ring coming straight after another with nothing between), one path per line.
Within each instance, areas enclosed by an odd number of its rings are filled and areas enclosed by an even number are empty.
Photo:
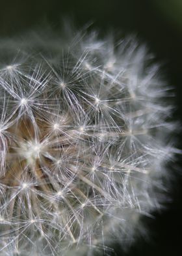
M135 39L96 33L0 48L0 255L125 246L162 206L175 152L157 65Z

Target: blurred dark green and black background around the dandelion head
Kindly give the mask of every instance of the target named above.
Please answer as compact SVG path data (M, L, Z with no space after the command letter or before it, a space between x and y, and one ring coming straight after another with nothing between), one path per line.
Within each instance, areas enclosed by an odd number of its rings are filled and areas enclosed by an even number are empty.
M135 33L153 52L168 84L175 88L177 110L174 119L182 112L182 1L181 0L24 0L2 1L0 8L0 39L34 29L43 23L59 29L63 17L71 17L76 27L93 22L92 28L101 33L113 30L122 35ZM179 147L182 136L179 135ZM182 232L182 171L172 180L174 199L164 212L153 213L146 219L150 240L140 238L129 251L116 245L117 256L180 255ZM178 171L174 169L178 169ZM181 172L181 174L180 174Z

